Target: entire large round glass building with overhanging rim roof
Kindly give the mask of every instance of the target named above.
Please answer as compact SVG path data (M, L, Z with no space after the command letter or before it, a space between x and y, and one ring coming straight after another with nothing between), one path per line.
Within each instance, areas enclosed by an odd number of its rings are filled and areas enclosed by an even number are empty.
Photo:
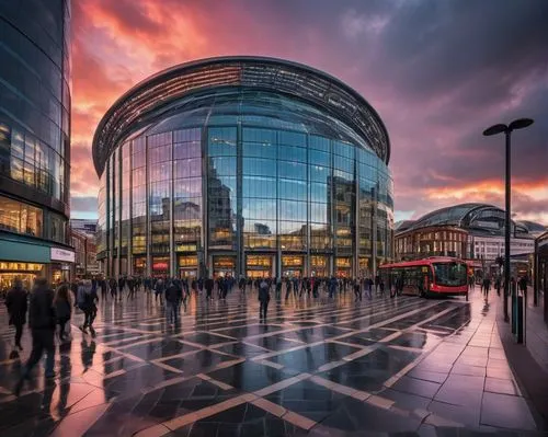
M391 258L390 143L354 90L281 59L161 71L101 120L107 275L355 276Z

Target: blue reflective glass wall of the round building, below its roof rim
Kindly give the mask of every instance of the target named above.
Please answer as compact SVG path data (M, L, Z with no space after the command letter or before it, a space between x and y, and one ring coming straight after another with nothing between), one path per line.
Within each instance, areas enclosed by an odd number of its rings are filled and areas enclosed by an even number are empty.
M153 127L112 154L106 226L111 256L122 230L128 273L351 277L391 258L392 181L373 150L215 117Z

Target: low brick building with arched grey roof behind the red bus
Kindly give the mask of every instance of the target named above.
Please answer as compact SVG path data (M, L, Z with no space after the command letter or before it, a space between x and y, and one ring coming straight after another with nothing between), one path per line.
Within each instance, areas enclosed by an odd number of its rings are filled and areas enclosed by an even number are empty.
M511 255L534 252L540 225L512 222ZM396 258L457 256L494 263L504 256L504 210L492 205L461 204L429 212L418 220L398 223Z

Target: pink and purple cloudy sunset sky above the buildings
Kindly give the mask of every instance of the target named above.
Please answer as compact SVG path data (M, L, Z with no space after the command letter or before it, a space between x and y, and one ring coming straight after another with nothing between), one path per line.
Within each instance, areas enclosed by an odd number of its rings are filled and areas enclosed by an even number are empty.
M391 141L396 218L464 202L504 205L513 136L513 211L548 225L546 0L72 1L73 217L96 217L94 129L148 76L189 60L259 55L302 62L350 84Z

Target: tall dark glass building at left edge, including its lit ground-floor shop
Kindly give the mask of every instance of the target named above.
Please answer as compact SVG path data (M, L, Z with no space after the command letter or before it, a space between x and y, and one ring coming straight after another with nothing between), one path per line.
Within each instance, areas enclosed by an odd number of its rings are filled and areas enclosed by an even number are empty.
M68 277L70 2L0 2L0 287Z

